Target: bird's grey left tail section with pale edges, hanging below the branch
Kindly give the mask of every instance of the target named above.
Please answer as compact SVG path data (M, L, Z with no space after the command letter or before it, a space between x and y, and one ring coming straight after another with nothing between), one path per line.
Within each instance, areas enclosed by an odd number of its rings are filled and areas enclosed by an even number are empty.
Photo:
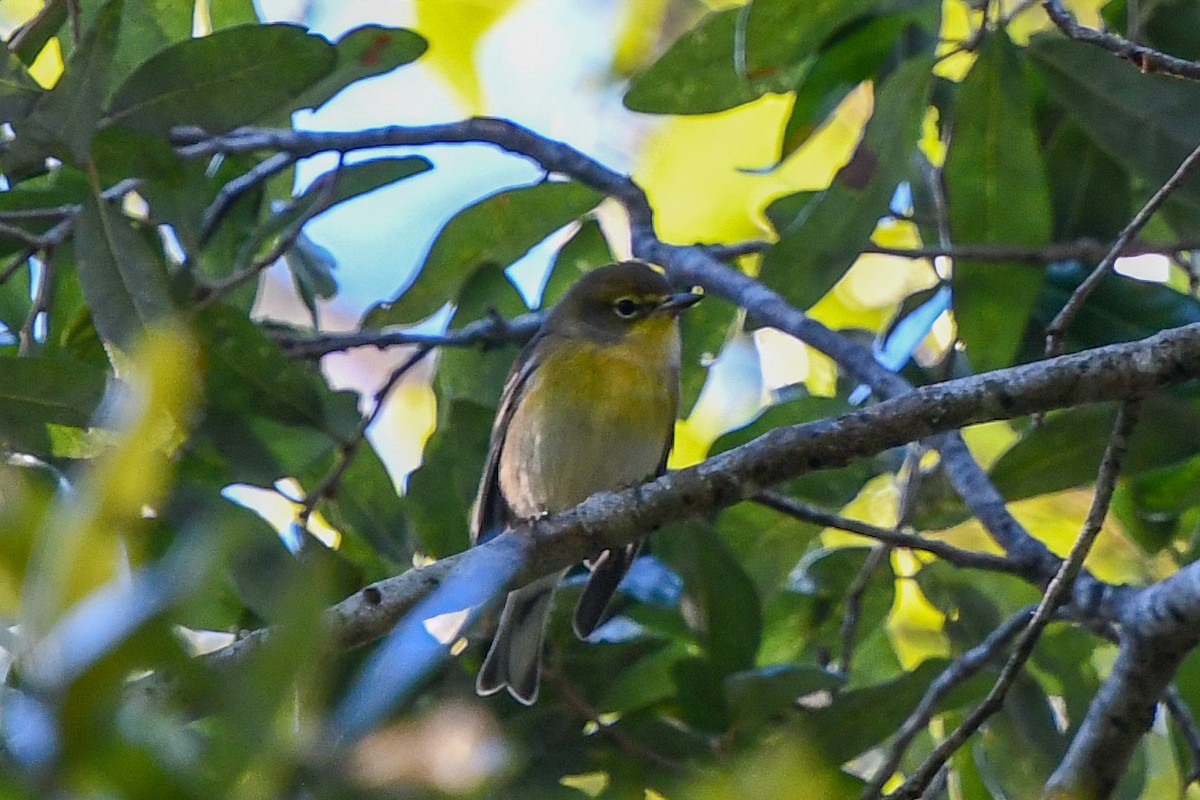
M493 694L506 687L509 694L526 705L538 699L541 646L560 577L562 573L547 576L509 593L496 638L475 678L476 692Z

